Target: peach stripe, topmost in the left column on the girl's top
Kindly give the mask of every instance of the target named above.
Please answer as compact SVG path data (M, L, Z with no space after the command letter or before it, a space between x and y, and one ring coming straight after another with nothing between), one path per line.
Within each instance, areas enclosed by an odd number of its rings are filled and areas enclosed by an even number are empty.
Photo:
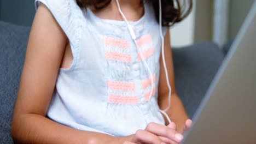
M128 40L115 37L104 37L104 43L106 46L117 46L124 49L130 49L131 47Z

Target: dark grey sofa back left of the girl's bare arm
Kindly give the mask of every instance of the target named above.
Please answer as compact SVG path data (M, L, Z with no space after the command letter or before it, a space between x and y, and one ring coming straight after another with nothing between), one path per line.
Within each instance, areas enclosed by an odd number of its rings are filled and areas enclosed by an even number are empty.
M0 143L12 143L10 123L24 63L29 27L0 21Z

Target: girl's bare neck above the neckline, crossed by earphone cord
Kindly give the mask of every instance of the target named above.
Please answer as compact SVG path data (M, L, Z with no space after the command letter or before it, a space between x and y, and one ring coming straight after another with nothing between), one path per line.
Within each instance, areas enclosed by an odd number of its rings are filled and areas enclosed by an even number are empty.
M137 21L144 14L144 7L140 0L119 0L121 10L128 21ZM123 17L119 13L117 2L112 0L107 7L97 10L90 7L93 13L101 19L110 19L123 21Z

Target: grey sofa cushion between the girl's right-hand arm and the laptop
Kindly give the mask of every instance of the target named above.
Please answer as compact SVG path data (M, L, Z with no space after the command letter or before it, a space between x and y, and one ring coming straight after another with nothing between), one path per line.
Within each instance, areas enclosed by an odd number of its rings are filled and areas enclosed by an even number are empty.
M192 118L224 55L212 42L173 48L172 52L177 93Z

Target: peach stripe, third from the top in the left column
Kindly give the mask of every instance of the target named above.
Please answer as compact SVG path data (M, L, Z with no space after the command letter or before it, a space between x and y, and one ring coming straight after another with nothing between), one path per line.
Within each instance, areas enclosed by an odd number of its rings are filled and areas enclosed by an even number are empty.
M108 88L123 91L135 91L135 83L127 81L108 80Z

